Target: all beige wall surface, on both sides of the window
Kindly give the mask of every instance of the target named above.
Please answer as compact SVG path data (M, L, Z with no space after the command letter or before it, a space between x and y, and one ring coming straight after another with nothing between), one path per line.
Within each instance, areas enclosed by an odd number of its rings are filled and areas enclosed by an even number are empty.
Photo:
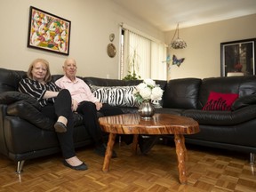
M77 60L78 76L118 77L119 55L109 58L106 48L109 34L114 33L119 51L121 22L156 39L165 37L167 44L173 36L173 31L161 32L111 0L1 0L0 68L27 70L31 60L40 57L50 61L52 74L62 73L67 56L27 47L30 5L71 20L69 56ZM220 76L220 43L256 37L255 20L256 14L193 28L182 28L180 23L180 37L188 48L171 50L178 58L186 58L180 68L172 67L172 78Z

